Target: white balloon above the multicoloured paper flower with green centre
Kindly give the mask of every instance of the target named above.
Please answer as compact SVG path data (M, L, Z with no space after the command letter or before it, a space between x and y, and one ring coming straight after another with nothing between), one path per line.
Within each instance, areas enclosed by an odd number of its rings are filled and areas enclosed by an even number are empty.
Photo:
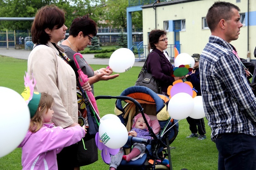
M191 57L187 53L180 53L179 55L177 55L177 57L175 58L175 61L174 61L175 67L179 67L180 65L187 65L187 64L191 68L194 67L195 60L193 59L193 57Z

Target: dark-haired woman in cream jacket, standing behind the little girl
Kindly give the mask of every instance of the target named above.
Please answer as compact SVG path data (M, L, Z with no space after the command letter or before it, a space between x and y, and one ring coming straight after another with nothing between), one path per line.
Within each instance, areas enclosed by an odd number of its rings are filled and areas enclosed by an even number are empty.
M57 45L65 38L67 27L64 22L65 12L57 6L46 5L39 9L31 28L35 46L28 57L28 73L37 81L34 90L47 91L53 96L55 113L52 122L62 128L79 125L75 72L68 63L70 59L65 50ZM88 82L83 89L91 90ZM58 169L74 169L76 150L71 151L66 152L64 148L60 152L65 153L66 160L58 160L58 167L62 167Z

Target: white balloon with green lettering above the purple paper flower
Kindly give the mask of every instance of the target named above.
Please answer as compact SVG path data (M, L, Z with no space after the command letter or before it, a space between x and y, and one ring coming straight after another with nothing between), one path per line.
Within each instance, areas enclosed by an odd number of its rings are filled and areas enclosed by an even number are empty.
M123 147L128 140L125 125L114 119L101 120L99 135L102 143L111 149Z

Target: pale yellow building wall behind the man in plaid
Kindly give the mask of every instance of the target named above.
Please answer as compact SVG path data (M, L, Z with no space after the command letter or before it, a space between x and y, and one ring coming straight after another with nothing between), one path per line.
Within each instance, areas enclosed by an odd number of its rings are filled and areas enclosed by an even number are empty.
M248 0L241 0L237 3L236 0L225 0L226 2L233 3L240 8L240 13L247 13ZM185 2L173 5L158 6L156 7L156 28L163 29L163 21L168 20L186 20L186 30L180 31L180 44L181 51L189 55L193 53L201 53L208 38L211 35L209 29L202 29L202 17L205 17L208 9L214 3L213 0L200 0L193 2ZM148 33L155 29L155 10L145 8L143 12L143 43L148 43ZM256 13L256 0L250 0L250 12ZM254 13L254 14L255 14ZM250 16L249 20L256 20L255 15ZM245 18L247 21L247 17ZM256 21L254 21L255 23ZM171 27L172 25L169 25ZM238 40L231 42L237 48L240 58L247 59L247 29L242 27ZM249 52L250 58L254 58L253 52L256 46L256 26L249 26ZM172 29L171 29L172 30ZM174 44L174 32L168 32L168 44Z

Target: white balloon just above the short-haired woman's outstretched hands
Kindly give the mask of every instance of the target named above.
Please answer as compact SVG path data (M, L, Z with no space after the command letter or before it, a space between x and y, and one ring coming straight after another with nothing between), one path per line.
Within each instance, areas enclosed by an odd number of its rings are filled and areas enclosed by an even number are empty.
M109 59L109 66L113 72L127 72L135 62L134 53L128 48L119 48L115 50Z

